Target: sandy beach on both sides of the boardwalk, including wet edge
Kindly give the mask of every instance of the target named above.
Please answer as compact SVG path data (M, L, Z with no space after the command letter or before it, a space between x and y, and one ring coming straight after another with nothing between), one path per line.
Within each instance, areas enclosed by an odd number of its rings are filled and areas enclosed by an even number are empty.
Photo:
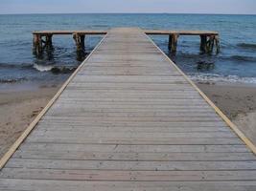
M241 83L195 82L256 145L256 86ZM0 158L28 127L61 84L13 84L0 89Z

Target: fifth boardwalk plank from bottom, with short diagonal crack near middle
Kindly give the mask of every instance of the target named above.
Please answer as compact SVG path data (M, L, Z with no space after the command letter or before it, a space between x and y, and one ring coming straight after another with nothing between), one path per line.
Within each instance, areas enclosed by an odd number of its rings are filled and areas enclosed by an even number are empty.
M77 152L111 152L113 153L246 153L249 150L244 145L116 145L116 144L54 144L25 143L20 151L77 151Z

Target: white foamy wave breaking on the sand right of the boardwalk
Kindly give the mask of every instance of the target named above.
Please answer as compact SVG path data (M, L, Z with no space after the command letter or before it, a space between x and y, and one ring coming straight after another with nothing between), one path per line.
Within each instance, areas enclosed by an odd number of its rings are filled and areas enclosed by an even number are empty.
M231 82L256 84L256 77L241 77L238 75L221 75L221 74L188 74L192 80L202 82Z

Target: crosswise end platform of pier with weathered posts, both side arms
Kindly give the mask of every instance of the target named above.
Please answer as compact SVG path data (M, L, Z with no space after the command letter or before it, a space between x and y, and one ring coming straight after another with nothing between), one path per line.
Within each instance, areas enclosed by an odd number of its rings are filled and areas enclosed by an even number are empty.
M208 31L162 31L162 30L145 30L149 35L169 35L168 48L171 53L175 53L177 49L177 40L180 35L198 35L200 36L200 51L202 53L213 53L216 48L216 53L220 53L220 39L218 32ZM33 32L35 53L38 55L43 52L44 48L51 48L53 35L68 35L72 34L75 40L77 51L84 52L85 35L103 35L107 31L43 31Z

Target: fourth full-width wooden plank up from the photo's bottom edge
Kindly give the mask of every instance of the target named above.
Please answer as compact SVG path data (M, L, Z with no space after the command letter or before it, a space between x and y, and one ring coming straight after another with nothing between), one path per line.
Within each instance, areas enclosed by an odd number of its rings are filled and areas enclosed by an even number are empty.
M65 143L67 144L67 143ZM104 144L104 143L103 143ZM168 152L81 152L81 151L16 151L13 159L71 159L125 161L248 161L255 160L249 152L168 153Z

